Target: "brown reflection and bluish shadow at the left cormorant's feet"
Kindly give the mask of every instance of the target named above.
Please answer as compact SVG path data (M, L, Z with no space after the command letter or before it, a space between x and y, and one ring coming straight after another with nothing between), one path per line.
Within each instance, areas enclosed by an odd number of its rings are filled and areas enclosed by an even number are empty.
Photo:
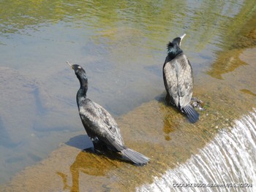
M75 161L69 167L72 175L72 186L69 186L69 180L67 174L63 172L56 172L63 181L63 190L80 191L80 174L87 174L95 177L105 176L111 169L118 167L115 159L117 155L113 153L105 153L104 155L95 153L91 139L87 135L79 135L72 137L66 142L67 145L82 149L75 158ZM83 182L83 181L81 181ZM107 189L106 185L102 185L102 188Z

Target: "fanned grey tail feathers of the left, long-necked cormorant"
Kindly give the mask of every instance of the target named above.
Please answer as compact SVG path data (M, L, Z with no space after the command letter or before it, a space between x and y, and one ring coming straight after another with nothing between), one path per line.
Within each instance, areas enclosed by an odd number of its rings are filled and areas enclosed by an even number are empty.
M121 150L121 153L130 161L138 165L145 165L149 161L149 158L146 157L145 155L129 148Z

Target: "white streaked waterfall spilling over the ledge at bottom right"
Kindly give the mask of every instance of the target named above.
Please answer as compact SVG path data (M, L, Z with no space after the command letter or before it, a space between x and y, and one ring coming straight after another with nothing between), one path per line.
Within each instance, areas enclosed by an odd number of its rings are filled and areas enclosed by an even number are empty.
M137 191L256 191L256 110Z

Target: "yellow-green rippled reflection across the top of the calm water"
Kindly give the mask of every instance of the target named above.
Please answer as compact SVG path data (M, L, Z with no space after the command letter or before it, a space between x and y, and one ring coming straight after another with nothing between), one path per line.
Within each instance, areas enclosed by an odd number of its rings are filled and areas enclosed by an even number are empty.
M96 32L92 37L98 43L102 43L98 39L102 37L102 30L108 31L125 26L143 31L142 37L145 38L145 43L156 49L159 48L155 45L156 42L159 45L159 42L168 39L166 37L172 39L173 34L177 36L189 31L188 34L193 38L189 43L193 42L196 49L203 50L208 42L216 40L220 31L228 29L230 37L234 28L241 28L239 25L244 22L245 17L248 17L249 9L254 3L255 1L249 0L197 1L197 3L190 1L148 3L140 0L119 1L114 4L113 1L66 0L45 3L30 0L22 4L2 1L0 34L2 37L11 37L11 34L15 33L31 35L34 31L40 31L42 26L62 22L72 28L87 30L91 28ZM252 15L252 12L249 12L249 15ZM233 23L230 22L235 19L238 22L236 27L232 27ZM27 28L32 31L26 30ZM236 34L232 36L234 35ZM113 43L112 40L108 39L108 42Z

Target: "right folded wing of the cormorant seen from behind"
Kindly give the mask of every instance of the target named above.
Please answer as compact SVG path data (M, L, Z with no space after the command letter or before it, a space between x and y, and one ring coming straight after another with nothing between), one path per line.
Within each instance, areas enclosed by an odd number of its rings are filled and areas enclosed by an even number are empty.
M181 109L185 107L192 98L193 77L192 67L186 55L181 54L176 58L178 72L178 96Z

